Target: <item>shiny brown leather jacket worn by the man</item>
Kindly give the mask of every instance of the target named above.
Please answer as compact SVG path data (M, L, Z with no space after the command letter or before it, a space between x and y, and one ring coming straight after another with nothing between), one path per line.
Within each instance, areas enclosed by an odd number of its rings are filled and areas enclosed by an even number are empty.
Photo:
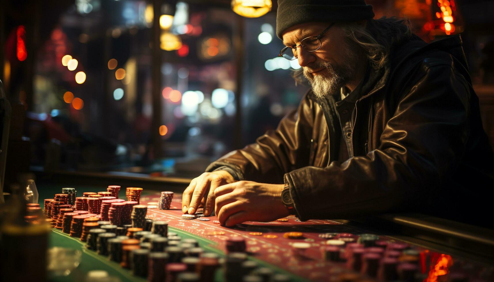
M355 103L347 161L333 153L341 131L331 99L309 91L276 130L206 171L284 182L301 220L419 211L472 222L480 204L490 206L494 157L467 68L459 36L407 41Z

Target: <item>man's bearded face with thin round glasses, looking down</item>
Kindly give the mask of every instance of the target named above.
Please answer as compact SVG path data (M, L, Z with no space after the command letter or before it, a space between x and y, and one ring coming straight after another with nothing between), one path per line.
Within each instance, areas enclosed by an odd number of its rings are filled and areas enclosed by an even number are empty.
M299 45L306 37L320 35L329 24L305 23L293 26L283 34L283 43L287 46ZM329 28L321 42L321 47L314 52L299 46L295 54L314 94L324 98L328 94L339 94L339 88L351 80L358 56L355 45L343 36L338 25Z

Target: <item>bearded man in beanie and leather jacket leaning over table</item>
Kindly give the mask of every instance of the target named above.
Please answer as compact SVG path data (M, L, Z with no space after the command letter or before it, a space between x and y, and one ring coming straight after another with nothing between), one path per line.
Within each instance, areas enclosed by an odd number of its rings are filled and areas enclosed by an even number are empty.
M364 0L279 0L280 55L312 89L192 180L184 213L204 205L234 226L386 211L473 222L488 210L494 158L460 37L427 44L407 21L373 16Z

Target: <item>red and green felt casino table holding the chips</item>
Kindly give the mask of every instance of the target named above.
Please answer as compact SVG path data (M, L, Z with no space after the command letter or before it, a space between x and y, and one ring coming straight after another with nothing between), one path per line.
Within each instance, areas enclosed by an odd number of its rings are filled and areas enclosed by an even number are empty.
M105 188L93 186L72 187L77 189L78 196L82 192L105 191ZM125 185L122 187L119 196L125 199ZM39 187L40 204L42 205L43 199L60 193L60 189L61 186L57 187L56 184ZM267 267L274 273L288 275L290 281L376 281L366 275L358 275L366 270L360 263L363 259L355 259L360 258L359 251L349 248L352 243L364 244L365 253L361 253L361 256L366 256L372 248L375 249L372 251L382 252L382 245L379 244L385 244L384 256L390 256L389 263L395 269L397 262L403 267L406 264L414 265L414 278L408 281L494 281L491 252L494 237L491 237L493 233L488 230L476 230L478 232L472 235L472 232L464 229L460 233L459 229L445 227L438 222L424 223L423 220L421 222L416 218L403 216L391 219L384 217L369 221L371 224L367 225L349 220L300 222L296 217L288 216L273 222L245 222L227 228L220 226L215 216L203 217L198 214L194 219L183 218L181 194L178 191L175 192L169 210L156 207L159 198L160 191L144 189L140 204L148 205L147 218L168 222L168 232L176 233L182 239L195 239L206 252L217 253L220 257L228 253L228 240L240 238L246 243L249 260L256 261L259 266ZM397 224L400 219L406 223ZM295 236L289 236L290 234ZM368 240L372 238L370 236L376 236L377 240ZM341 241L344 242L343 245L340 245ZM105 270L121 281L145 281L145 278L132 276L129 270L121 268L107 257L87 250L84 242L59 230L52 229L49 243L50 246L82 251L79 267L69 276L54 277L53 281L82 281L90 270ZM381 263L383 261L384 259ZM387 274L381 266L379 273L373 275L381 281L387 281L386 275L401 276L405 270L398 268L398 272L393 274L391 271L391 274ZM216 273L215 280L224 281L222 270Z

